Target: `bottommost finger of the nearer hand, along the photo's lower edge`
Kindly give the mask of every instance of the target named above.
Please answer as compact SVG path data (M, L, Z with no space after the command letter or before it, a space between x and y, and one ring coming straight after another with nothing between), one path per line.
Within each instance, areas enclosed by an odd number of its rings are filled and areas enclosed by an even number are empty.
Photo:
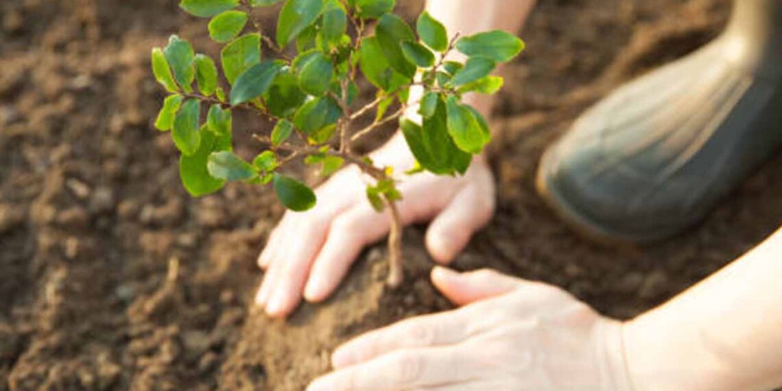
M407 390L468 382L474 371L456 346L404 350L332 372L312 382L307 391Z

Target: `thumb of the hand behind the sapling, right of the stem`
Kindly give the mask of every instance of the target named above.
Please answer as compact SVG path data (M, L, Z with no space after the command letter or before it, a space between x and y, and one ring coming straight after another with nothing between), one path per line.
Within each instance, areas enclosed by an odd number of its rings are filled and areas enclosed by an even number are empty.
M450 264L472 234L490 221L493 209L493 199L486 199L478 186L461 189L429 224L426 247L432 258L439 264Z

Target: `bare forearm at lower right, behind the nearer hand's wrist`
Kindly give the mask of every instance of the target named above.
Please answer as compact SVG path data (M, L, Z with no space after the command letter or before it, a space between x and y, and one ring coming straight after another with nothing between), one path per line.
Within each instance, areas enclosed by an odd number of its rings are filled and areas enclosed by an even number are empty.
M625 328L636 391L782 386L782 229Z

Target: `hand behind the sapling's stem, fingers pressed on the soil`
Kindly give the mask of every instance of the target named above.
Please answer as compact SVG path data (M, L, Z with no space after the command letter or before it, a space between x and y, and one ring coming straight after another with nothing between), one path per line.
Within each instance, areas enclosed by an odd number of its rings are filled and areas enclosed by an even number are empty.
M397 172L411 168L414 161L398 136L371 157ZM313 210L285 213L258 260L266 275L256 303L267 314L287 316L302 296L325 300L361 249L388 233L389 217L372 209L364 196L366 183L357 167L347 167L317 188L319 201ZM480 159L462 177L417 174L399 189L404 195L398 204L403 224L433 219L426 246L440 264L450 263L493 215L493 176Z

